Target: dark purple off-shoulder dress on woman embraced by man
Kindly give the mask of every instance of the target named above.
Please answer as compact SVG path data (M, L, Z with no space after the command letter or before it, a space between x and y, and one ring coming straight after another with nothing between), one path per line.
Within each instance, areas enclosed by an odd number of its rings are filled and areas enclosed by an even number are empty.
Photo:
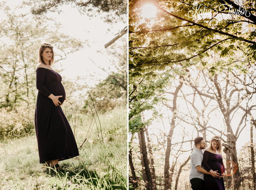
M204 151L202 166L204 166L207 171L211 169L213 171L218 170L217 173L219 174L225 172L222 156L209 151ZM225 190L223 177L218 179L212 177L212 175L204 174L204 187L205 190Z

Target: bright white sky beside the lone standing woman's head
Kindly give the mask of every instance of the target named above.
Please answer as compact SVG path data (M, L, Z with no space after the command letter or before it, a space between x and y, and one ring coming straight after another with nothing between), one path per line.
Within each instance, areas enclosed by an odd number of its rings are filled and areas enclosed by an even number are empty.
M6 4L14 8L14 5L18 5L21 2L20 0L8 0ZM27 13L29 10L30 8L23 9L20 12ZM99 79L106 78L108 74L99 69L90 59L99 67L105 69L110 67L111 69L111 62L108 61L109 58L111 59L111 55L104 53L106 52L104 45L116 37L114 35L122 30L127 23L119 22L111 26L110 24L104 23L100 16L88 17L87 15L80 15L74 4L73 8L71 4L63 5L61 10L63 12L60 14L48 12L47 17L53 17L56 22L60 22L63 25L63 28L59 32L80 39L81 41L88 40L89 46L84 46L82 50L68 54L65 60L61 60L55 65L53 64L52 67L53 69L54 67L59 69L60 64L62 64L61 68L64 70L60 72L61 76L74 79L79 75L81 77L87 77L85 82L88 86L97 84ZM126 39L127 35L121 38ZM120 40L115 43L117 45L122 44ZM96 77L88 77L90 74Z

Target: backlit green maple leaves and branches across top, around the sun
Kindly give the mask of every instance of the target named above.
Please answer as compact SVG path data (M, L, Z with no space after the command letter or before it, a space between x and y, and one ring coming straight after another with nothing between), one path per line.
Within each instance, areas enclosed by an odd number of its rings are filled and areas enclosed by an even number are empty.
M242 8L251 5L245 1ZM201 65L211 72L217 72L225 67L234 68L239 64L255 64L255 8L247 7L247 15L227 17L228 9L219 12L217 17L199 15L188 16L197 4L204 6L215 16L214 10L219 10L223 1L171 0L158 1L154 4L157 14L153 19L143 18L141 11L144 1L129 1L129 68L138 68L149 72L151 70L165 70L179 65L189 67ZM235 3L232 4L232 11ZM239 7L239 5L238 5ZM199 11L198 11L199 12ZM249 20L248 23L246 20ZM246 28L245 28L246 27ZM247 52L246 57L238 57L237 50ZM229 59L234 57L233 64L223 61L216 67L211 57ZM183 68L182 68L183 69Z

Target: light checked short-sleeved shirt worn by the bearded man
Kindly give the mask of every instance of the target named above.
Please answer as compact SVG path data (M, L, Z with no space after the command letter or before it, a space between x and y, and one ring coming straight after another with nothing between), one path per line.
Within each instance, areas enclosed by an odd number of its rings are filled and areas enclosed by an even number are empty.
M204 180L204 174L197 171L196 169L196 166L201 166L202 168L204 168L202 166L203 155L204 155L203 150L200 150L194 146L194 149L190 156L191 170L189 174L189 180L192 178L200 178Z

